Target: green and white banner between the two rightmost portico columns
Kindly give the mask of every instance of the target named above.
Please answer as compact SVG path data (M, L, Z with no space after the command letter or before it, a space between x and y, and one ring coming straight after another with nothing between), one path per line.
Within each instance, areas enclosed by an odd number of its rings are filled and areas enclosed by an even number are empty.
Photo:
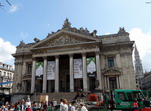
M96 75L96 64L95 57L87 58L87 73L89 77L95 77Z

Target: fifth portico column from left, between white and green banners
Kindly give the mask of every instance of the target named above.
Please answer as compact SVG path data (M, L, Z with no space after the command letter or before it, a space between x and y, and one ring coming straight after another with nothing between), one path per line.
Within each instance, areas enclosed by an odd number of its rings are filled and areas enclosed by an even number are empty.
M87 65L86 65L86 54L82 54L82 62L83 62L83 89L84 91L88 91L87 84Z

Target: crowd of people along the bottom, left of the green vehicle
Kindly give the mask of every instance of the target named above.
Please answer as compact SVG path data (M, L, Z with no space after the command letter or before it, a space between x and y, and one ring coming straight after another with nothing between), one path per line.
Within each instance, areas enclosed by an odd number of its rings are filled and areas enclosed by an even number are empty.
M56 101L52 98L50 101L31 102L30 98L27 100L20 100L16 104L9 104L6 102L1 105L0 111L88 111L84 106L84 102L68 101L67 99L60 99Z

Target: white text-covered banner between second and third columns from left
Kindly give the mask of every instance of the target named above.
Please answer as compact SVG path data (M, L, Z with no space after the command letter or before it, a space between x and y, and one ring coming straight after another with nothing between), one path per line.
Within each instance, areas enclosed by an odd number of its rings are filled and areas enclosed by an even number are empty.
M55 79L55 61L48 61L47 63L47 80Z

